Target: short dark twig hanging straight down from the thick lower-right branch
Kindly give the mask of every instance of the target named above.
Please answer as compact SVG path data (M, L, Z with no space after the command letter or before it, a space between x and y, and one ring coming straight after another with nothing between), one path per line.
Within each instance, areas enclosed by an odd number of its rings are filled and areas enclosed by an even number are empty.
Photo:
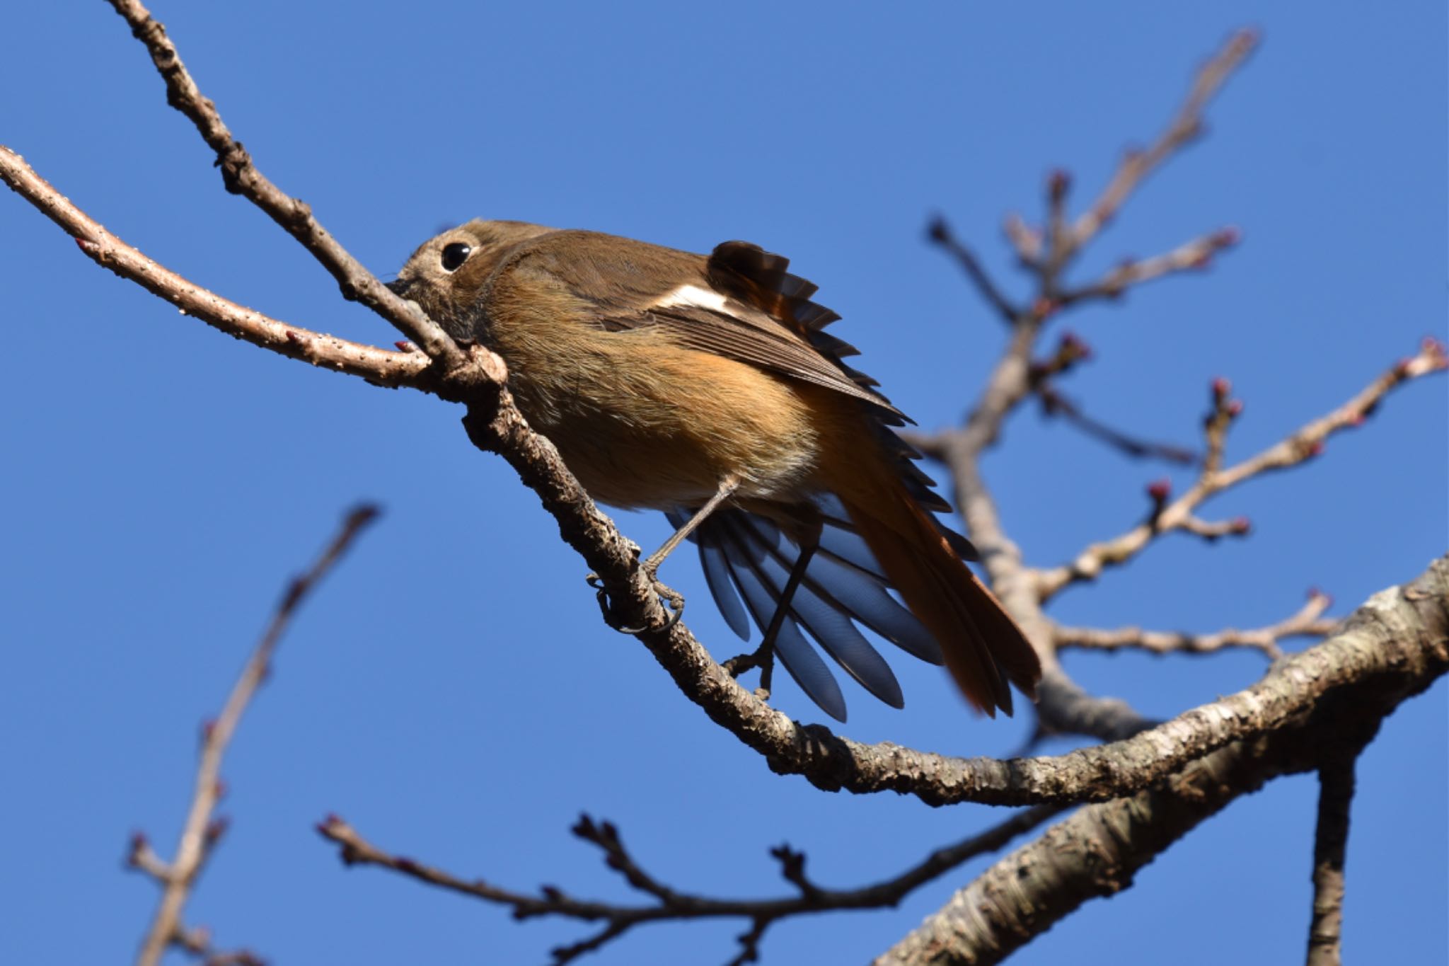
M1313 837L1313 920L1308 966L1337 966L1343 933L1343 859L1353 802L1353 768L1362 743L1339 747L1319 768L1319 823Z

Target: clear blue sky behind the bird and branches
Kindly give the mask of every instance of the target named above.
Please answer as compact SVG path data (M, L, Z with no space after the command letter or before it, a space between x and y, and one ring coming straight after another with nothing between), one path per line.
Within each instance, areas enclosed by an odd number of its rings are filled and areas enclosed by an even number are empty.
M1230 377L1246 401L1229 449L1240 458L1445 329L1442 3L422 3L406 14L358 3L343 16L156 0L155 13L261 168L377 272L474 216L691 251L751 239L820 284L845 316L835 332L927 429L959 419L1003 333L926 245L926 219L946 214L1024 293L1003 213L1035 216L1056 165L1080 194L1100 187L1123 145L1165 123L1191 68L1255 23L1265 43L1213 106L1210 136L1146 185L1081 277L1223 224L1243 245L1210 272L1074 313L1066 324L1095 359L1064 390L1106 420L1193 445L1208 381ZM0 142L151 256L303 326L396 337L222 191L103 4L12 10L0 83ZM525 963L580 934L345 870L312 831L327 811L464 875L619 899L632 896L567 834L580 811L619 823L667 882L722 895L782 892L767 856L780 841L806 850L820 882L848 886L1000 817L771 775L640 646L600 626L584 565L511 471L469 448L455 407L180 319L9 194L0 226L23 361L0 381L0 960L130 953L155 894L120 868L129 831L170 852L199 723L284 575L359 498L385 518L297 621L225 766L233 827L188 914L223 946L280 963ZM1249 540L1165 539L1052 613L1258 626L1310 585L1346 613L1445 550L1446 439L1445 381L1416 384L1313 466L1206 508L1249 516ZM1023 410L985 472L1029 559L1055 563L1135 521L1164 471ZM665 534L652 516L620 523L646 546ZM672 560L667 579L706 600L694 560ZM738 649L707 604L690 624L722 656ZM965 755L1023 739L1027 720L975 720L936 669L893 665L906 710L849 691L846 734ZM1262 671L1248 653L1071 655L1068 669L1151 715ZM793 685L777 701L816 718ZM1349 959L1449 956L1445 723L1439 682L1364 756ZM1311 778L1274 782L1014 962L1301 957L1313 808ZM862 962L985 862L898 910L778 925L765 962ZM594 962L723 962L739 930L656 927ZM1198 940L1182 943L1188 931Z

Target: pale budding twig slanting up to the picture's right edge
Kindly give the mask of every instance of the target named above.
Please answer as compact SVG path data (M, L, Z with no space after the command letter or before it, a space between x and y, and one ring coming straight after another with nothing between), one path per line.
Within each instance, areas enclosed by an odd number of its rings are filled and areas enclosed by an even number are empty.
M1207 469L1204 466L1204 472L1198 481L1175 501L1166 503L1162 511L1155 514L1153 518L1139 523L1136 527L1111 540L1091 545L1071 563L1039 571L1036 574L1039 600L1045 602L1072 584L1095 579L1106 568L1126 563L1164 533L1171 533L1172 530L1203 533L1204 530L1213 532L1219 529L1233 532L1235 526L1240 526L1239 521L1203 526L1194 520L1193 511L1208 497L1246 482L1259 474L1297 466L1320 455L1323 443L1329 436L1361 426L1378 408L1390 391L1410 379L1433 372L1443 372L1446 368L1449 368L1449 356L1445 355L1445 348L1433 339L1426 339L1416 356L1390 368L1332 413L1313 420L1277 445L1264 449L1240 463L1226 469ZM1208 436L1208 452L1213 453L1214 449L1220 452L1222 443L1211 442L1211 426ZM1208 462L1211 463L1213 459L1210 456Z

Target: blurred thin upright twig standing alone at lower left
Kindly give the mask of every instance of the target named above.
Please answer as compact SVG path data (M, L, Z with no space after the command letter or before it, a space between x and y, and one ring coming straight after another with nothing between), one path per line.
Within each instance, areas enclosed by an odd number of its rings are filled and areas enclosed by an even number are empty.
M262 633L261 640L256 642L256 647L242 668L241 676L232 685L226 705L216 720L207 723L206 728L203 728L201 760L197 765L196 789L191 795L191 808L187 812L181 839L177 841L175 857L170 863L162 862L152 852L143 836L138 834L132 837L130 865L149 873L162 888L156 914L141 944L141 953L136 956L139 965L155 966L155 963L161 962L161 954L168 946L183 943L185 930L181 924L181 911L191 895L191 886L196 885L203 863L226 828L220 820L212 818L222 792L220 770L226 746L230 743L232 736L236 734L236 726L241 724L246 705L251 704L256 689L267 679L272 653L277 650L277 643L291 623L293 614L296 614L307 594L346 552L358 533L377 517L377 513L375 507L367 505L349 513L342 523L342 529L312 568L291 581L267 630Z

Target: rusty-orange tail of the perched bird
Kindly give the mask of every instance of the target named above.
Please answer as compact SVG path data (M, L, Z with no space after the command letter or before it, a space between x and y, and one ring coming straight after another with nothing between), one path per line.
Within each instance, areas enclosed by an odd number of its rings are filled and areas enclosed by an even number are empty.
M997 708L1011 714L1007 682L1035 700L1042 665L1000 601L962 563L887 461L856 459L852 469L856 485L836 494L906 605L940 644L961 692L991 717Z

